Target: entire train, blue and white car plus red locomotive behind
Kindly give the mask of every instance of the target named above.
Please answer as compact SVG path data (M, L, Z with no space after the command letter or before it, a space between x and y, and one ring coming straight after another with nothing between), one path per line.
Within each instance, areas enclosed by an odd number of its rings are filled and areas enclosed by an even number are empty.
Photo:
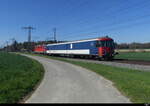
M90 57L111 60L115 56L114 40L109 37L36 46L36 53L57 56Z

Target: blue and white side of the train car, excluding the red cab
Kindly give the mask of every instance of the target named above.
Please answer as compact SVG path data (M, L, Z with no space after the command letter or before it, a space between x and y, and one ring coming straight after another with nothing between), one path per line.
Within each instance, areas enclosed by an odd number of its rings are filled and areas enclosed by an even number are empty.
M98 56L98 48L96 47L97 41L98 39L90 39L58 44L49 44L47 45L47 54Z

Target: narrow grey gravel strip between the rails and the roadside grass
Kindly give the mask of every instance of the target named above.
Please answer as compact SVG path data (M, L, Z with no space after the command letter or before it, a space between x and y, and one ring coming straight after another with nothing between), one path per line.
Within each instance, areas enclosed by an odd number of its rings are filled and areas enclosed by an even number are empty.
M96 63L96 64L104 64L104 65L110 65L115 67L121 67L121 68L129 68L129 69L136 69L141 71L149 71L150 72L150 66L148 65L137 65L137 64L127 64L127 63L118 63L118 62L106 62L106 61L95 61L95 60L85 60L85 59L71 59L67 58L68 60L73 61L83 61L83 62L89 62L89 63Z

